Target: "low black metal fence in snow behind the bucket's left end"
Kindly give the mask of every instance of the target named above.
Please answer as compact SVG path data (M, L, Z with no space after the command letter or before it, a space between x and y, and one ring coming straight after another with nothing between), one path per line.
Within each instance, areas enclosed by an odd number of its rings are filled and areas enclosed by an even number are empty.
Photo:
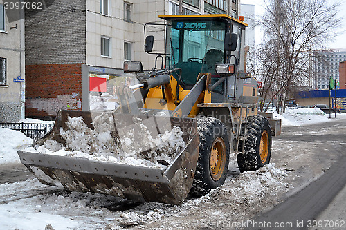
M41 124L41 123L1 123L0 127L10 128L12 130L20 131L24 133L27 137L42 137L46 133L52 130L54 124Z

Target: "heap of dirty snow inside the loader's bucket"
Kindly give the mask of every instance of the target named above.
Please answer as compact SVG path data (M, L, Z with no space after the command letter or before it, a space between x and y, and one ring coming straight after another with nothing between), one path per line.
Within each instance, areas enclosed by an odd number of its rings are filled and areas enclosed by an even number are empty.
M60 128L65 146L55 140L46 140L44 145L26 151L165 169L185 147L180 127L174 126L152 137L138 117L134 117L134 127L129 127L119 137L115 137L113 117L107 114L95 117L93 130L86 126L82 117L69 117L66 126L66 131Z

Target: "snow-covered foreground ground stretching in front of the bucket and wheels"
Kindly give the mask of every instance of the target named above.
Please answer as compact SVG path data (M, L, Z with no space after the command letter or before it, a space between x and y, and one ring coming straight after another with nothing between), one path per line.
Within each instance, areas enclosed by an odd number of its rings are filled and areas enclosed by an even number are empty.
M259 171L242 173L235 179L230 177L223 186L201 198L190 198L181 207L149 202L127 211L105 208L108 204L118 204L120 200L105 195L64 191L40 195L37 191L54 187L44 186L36 179L1 184L0 198L5 202L0 201L0 229L45 229L48 224L55 230L123 229L161 221L163 216L189 215L190 211L212 204L221 196L228 199L220 205L232 204L237 212L237 209L251 206L267 194L288 189L289 184L284 182L286 176L284 171L275 168L275 164L268 164ZM13 197L15 191L24 191L26 196L7 202L6 199ZM164 226L169 220L162 221Z

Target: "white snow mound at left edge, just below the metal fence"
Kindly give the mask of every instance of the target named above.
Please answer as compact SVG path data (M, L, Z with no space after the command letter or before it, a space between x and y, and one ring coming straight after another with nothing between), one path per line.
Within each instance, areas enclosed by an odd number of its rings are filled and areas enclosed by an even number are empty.
M19 131L0 128L0 164L19 163L17 151L27 148L32 143L30 137Z

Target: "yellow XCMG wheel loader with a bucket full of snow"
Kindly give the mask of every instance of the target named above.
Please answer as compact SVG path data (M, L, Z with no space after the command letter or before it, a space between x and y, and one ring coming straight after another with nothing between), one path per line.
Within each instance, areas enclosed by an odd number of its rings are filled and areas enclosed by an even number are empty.
M33 148L19 151L21 162L41 182L70 191L181 204L188 193L203 194L224 184L230 154L237 156L240 171L269 162L271 137L280 133L280 122L257 115L257 81L245 72L246 23L228 15L160 17L166 26L165 52L154 52L155 67L147 73L140 62L124 63L125 73L135 73L139 83L118 86L118 108L60 111L50 133L35 140ZM145 37L147 53L153 54L153 44L154 36ZM78 134L66 134L83 127ZM107 142L100 127L111 137ZM163 137L174 128L181 132L182 145L161 148L170 144ZM156 137L161 139L149 144ZM75 152L55 154L53 147L38 151L52 143L60 151ZM156 166L121 162L126 154L116 162L102 158L109 149L117 157L125 148L136 149L137 160L154 157ZM163 157L172 148L171 158ZM83 151L101 156L79 157Z

